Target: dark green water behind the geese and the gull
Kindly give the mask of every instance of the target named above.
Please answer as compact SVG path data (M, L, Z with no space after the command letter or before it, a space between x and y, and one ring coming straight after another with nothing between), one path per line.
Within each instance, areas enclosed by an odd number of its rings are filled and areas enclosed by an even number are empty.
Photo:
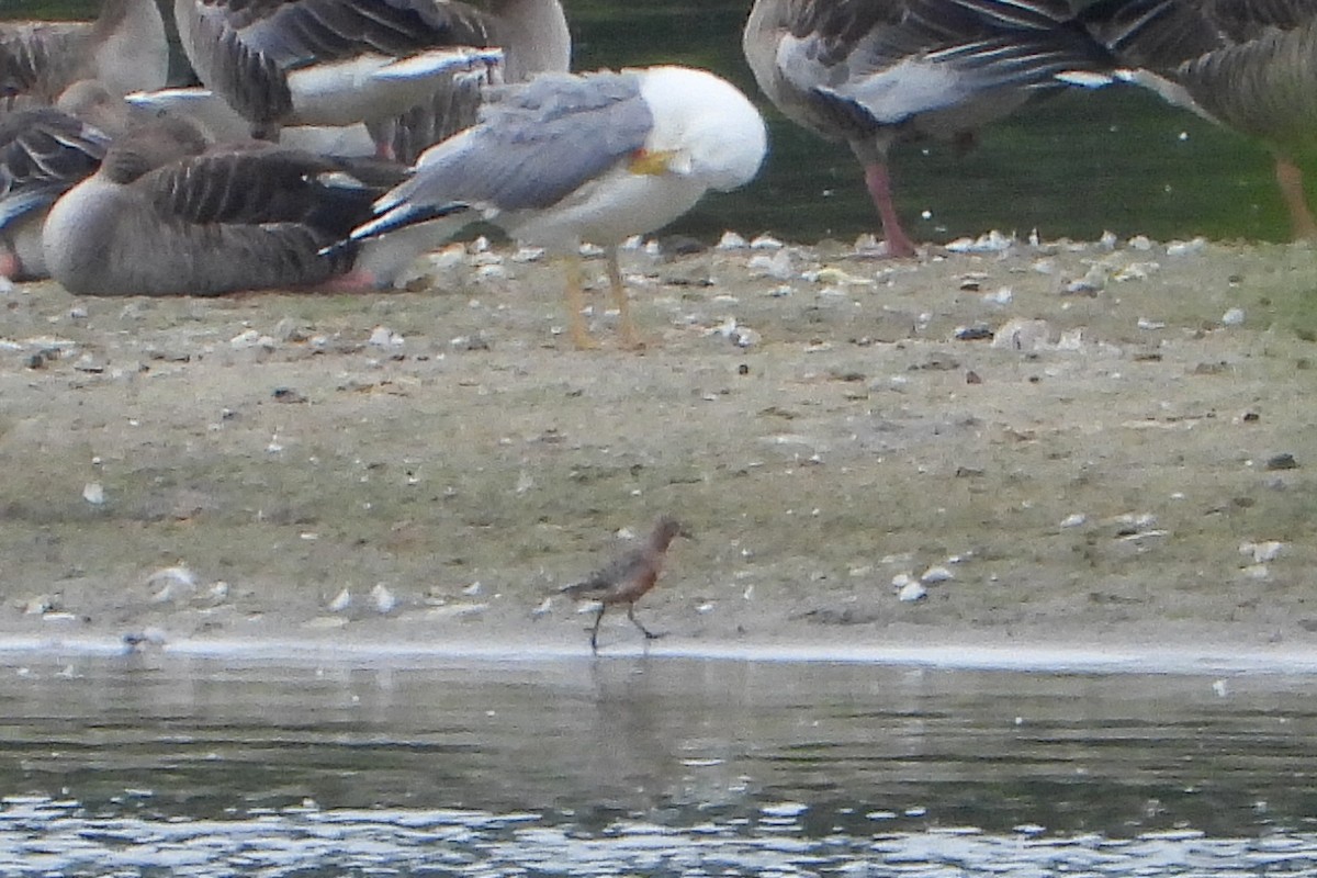
M581 70L690 63L759 97L740 57L749 0L565 5ZM76 17L95 8L88 0L4 0L0 17ZM764 174L741 192L710 197L678 229L703 237L727 228L772 230L803 241L873 232L876 217L849 151L766 105L765 112L773 151ZM1131 88L1039 103L988 129L967 155L943 145L906 146L894 155L893 172L911 232L931 241L992 228L1089 240L1104 229L1159 240L1288 236L1262 149Z

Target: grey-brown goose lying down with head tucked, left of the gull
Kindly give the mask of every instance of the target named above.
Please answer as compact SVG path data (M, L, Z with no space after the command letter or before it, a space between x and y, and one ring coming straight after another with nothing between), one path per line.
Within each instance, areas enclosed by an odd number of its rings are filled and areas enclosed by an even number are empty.
M362 247L321 250L386 187L342 176L333 159L266 142L209 147L192 122L159 118L116 140L55 203L46 263L75 295L369 288L374 276L354 274Z

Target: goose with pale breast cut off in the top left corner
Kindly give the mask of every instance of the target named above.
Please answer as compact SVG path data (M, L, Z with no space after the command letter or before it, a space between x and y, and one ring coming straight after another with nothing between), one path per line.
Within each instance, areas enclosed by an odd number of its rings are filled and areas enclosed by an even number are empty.
M95 21L0 22L0 93L46 104L82 79L116 96L162 88L169 43L157 0L103 0Z

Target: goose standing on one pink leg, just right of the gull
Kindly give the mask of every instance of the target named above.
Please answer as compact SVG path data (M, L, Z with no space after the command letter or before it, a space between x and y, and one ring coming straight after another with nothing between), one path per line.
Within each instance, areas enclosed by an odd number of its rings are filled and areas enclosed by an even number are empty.
M892 203L888 151L976 129L1065 84L1108 82L1106 53L1068 0L756 0L741 47L792 121L864 166L886 251L917 247Z

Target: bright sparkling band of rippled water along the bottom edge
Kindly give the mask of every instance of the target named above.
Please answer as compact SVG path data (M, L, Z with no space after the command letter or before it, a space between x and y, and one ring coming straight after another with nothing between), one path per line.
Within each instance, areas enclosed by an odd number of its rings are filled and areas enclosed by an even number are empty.
M973 827L864 837L806 833L807 807L765 806L748 821L586 829L569 815L468 810L320 810L232 820L97 817L78 802L0 803L0 875L893 875L1055 874L1268 878L1312 875L1317 835L1212 839L1196 829L1133 839L1039 837ZM784 821L794 832L784 835Z

